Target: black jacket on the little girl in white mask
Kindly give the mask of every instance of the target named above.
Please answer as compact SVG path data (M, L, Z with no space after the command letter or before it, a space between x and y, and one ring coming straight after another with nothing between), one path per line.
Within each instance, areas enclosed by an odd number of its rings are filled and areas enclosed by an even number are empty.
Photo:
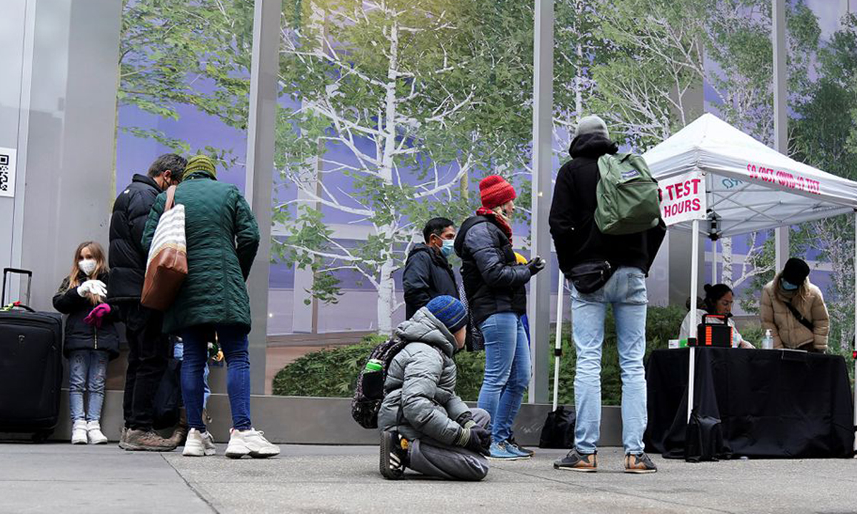
M83 284L87 281L87 276L81 273L77 279ZM106 273L99 277L99 280L105 284L108 279ZM76 287L69 288L68 277L63 278L63 284L54 295L53 303L57 311L68 314L65 320L65 342L63 343L63 354L66 357L75 350L102 350L109 353L111 359L119 356L119 334L113 324L115 313L111 312L105 316L101 328L87 325L84 319L95 306L88 298L78 295Z

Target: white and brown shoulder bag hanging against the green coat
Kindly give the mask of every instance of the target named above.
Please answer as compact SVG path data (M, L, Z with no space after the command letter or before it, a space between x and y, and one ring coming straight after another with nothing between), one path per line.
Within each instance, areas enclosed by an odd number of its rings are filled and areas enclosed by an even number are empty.
M175 205L176 186L166 190L164 213L149 248L146 279L143 282L143 307L165 311L176 300L188 276L188 245L184 236L184 206Z

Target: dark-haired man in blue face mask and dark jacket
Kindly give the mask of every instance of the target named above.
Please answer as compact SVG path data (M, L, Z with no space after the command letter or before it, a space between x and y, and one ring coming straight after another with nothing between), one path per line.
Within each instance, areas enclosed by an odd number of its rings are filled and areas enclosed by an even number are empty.
M423 241L411 249L405 261L402 287L405 290L405 318L410 320L435 296L458 298L458 284L447 257L455 253L455 226L446 218L428 220Z

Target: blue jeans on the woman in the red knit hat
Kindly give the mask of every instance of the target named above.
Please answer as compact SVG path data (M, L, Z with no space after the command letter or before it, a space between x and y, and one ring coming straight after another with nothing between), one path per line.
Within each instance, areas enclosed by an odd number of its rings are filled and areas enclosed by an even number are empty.
M492 439L502 442L512 434L530 384L530 344L518 314L494 314L479 328L485 339L485 378L478 405L491 415Z

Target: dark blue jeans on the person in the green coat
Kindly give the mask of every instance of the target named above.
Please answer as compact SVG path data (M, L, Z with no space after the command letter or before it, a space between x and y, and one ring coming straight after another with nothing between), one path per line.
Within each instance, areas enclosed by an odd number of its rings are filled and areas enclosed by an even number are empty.
M232 410L232 427L247 430L250 422L250 360L247 332L230 325L191 326L182 332L182 397L188 411L188 426L205 432L202 406L205 403L205 369L208 362L208 339L217 332L226 359L226 391Z

